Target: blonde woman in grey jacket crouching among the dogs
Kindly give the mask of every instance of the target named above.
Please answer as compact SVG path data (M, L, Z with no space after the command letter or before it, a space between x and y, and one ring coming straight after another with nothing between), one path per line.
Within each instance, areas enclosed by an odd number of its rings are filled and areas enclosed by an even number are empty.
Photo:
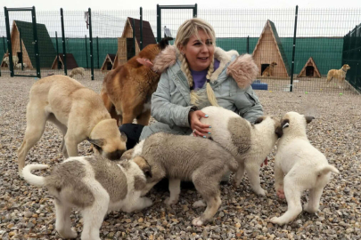
M230 109L250 122L263 115L250 87L258 73L250 55L239 57L235 51L216 48L215 43L214 29L204 20L186 20L178 28L175 44L154 62L153 69L162 72L152 94L152 116L158 122L144 127L122 125L127 148L154 132L193 132L205 138L211 134L211 126L201 124L201 117L207 116L200 109L209 105Z

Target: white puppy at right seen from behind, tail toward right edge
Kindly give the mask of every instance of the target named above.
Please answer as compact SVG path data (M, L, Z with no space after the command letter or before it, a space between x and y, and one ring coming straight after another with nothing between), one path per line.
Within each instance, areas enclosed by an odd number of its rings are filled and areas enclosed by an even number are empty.
M281 217L271 219L275 224L289 223L302 212L300 197L307 189L309 200L304 205L304 210L317 212L322 191L330 180L331 172L339 173L309 143L306 125L312 119L313 116L303 116L296 112L289 112L282 118L283 137L277 143L275 155L275 191L277 196L286 198L288 210Z

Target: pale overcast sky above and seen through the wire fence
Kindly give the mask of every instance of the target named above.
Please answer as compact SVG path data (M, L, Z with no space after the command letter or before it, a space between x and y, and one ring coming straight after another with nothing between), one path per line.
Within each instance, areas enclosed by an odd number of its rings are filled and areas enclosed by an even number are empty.
M150 22L156 34L156 5L197 4L198 17L209 21L217 37L258 37L267 20L272 20L280 37L292 37L295 7L299 5L299 37L343 37L361 23L361 0L0 0L8 8L31 7L37 9L37 22L46 25L50 36L60 36L60 8L64 10L67 37L89 36L84 12L92 9L93 36L119 37L127 17L139 19L139 7L144 9L144 20ZM161 26L170 28L173 36L180 24L192 18L191 10L162 11ZM29 12L14 12L12 20L31 21ZM6 36L4 8L0 9L0 36Z

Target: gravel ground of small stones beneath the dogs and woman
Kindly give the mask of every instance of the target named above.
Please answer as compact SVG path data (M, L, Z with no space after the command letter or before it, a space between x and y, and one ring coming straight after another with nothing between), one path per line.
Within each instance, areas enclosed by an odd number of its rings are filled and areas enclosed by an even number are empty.
M30 187L18 177L16 150L26 128L26 104L29 89L36 80L23 77L0 77L0 239L61 239L54 230L55 212L52 197L45 188ZM80 80L100 92L102 81ZM247 177L239 188L221 185L222 205L214 219L204 227L193 227L194 217L204 209L193 209L199 199L192 188L183 189L180 201L168 208L162 201L168 192L152 189L151 208L142 212L111 212L103 221L102 239L361 239L360 160L361 98L356 94L305 94L257 92L266 114L282 116L298 111L316 116L308 124L308 137L320 149L340 175L332 174L324 188L320 211L302 212L289 225L279 227L269 219L287 209L277 199L274 185L274 155L261 171L262 188L267 197L255 196ZM29 151L26 163L54 166L63 160L59 151L61 133L47 124L43 138ZM81 155L88 143L79 145ZM308 193L302 196L302 202ZM73 227L82 230L78 211L71 215ZM78 237L79 239L79 237Z

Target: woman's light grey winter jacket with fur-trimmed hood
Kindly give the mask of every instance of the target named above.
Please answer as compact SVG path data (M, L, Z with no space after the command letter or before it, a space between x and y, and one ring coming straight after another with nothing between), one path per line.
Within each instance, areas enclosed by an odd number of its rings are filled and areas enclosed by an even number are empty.
M254 122L258 116L263 115L258 97L250 86L258 74L258 68L248 54L238 56L235 51L225 52L216 48L215 58L220 61L220 65L210 77L210 85L218 105ZM155 60L154 69L162 72L158 88L152 94L152 116L158 122L145 126L140 140L154 132L191 134L188 114L195 107L191 104L190 86L181 70L181 62L176 59L174 46L168 46L160 53ZM206 84L197 92L199 95L202 93L207 94ZM206 100L197 107L201 109L209 105Z

